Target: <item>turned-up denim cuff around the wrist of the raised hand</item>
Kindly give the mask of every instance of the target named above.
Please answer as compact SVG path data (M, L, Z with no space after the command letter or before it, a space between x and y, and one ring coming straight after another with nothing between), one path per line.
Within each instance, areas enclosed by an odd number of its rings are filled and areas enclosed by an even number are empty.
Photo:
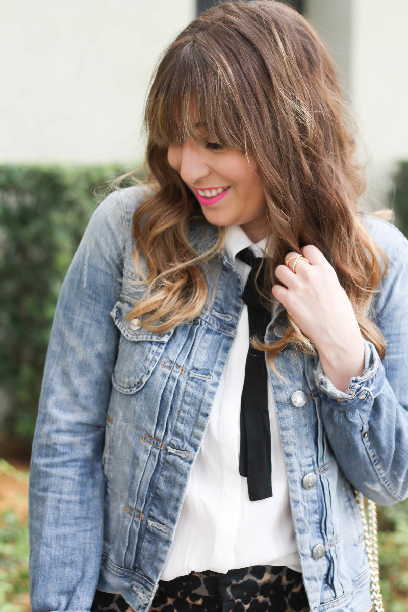
M363 375L353 376L345 392L337 389L325 376L319 357L316 368L313 369L313 376L316 388L325 400L332 400L334 403L341 402L341 406L347 406L347 408L366 402L371 405L370 400L374 400L381 392L385 380L384 366L373 343L366 338L363 338L363 341L365 347Z

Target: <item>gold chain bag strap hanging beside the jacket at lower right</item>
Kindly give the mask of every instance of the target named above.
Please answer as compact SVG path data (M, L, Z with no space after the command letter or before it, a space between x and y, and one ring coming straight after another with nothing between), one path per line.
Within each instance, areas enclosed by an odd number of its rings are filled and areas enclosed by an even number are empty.
M369 573L370 573L370 593L371 602L375 612L384 612L384 606L382 605L382 596L380 594L380 570L378 563L378 527L377 527L377 508L375 502L372 499L368 500L368 523L366 518L366 512L364 502L360 492L354 488L355 499L357 500L358 510L362 517L363 523L363 534L366 545L366 551L369 562Z

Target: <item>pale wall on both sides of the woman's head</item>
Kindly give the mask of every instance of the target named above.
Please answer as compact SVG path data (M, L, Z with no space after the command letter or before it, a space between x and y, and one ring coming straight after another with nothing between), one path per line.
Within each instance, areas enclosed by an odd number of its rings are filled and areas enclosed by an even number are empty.
M0 163L138 162L149 79L195 0L0 0ZM408 2L306 0L352 98L384 200L408 159Z

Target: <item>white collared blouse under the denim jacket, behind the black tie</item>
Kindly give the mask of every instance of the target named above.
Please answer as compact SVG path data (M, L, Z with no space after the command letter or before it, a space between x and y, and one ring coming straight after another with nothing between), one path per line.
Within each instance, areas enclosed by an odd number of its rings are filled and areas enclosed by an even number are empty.
M253 244L240 226L226 228L226 248L247 282L251 267L236 258L250 247L262 256L266 239ZM301 572L275 400L268 378L273 496L250 501L240 476L240 405L249 347L248 307L243 304L201 447L188 477L185 499L160 580L192 570L226 573L250 565L287 565Z

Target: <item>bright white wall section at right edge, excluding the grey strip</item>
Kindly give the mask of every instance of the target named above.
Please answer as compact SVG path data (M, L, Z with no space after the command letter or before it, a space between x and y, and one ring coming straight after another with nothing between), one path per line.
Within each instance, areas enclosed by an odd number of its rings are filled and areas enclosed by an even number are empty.
M372 154L371 196L384 200L390 173L408 159L408 2L355 0L353 97Z

